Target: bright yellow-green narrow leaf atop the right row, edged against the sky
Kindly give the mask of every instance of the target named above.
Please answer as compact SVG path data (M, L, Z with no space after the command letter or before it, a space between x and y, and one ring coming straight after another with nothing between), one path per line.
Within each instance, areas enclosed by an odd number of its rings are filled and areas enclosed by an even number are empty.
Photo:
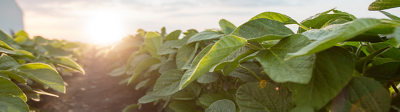
M267 19L282 22L283 24L298 24L297 21L290 18L289 16L281 14L281 13L277 13L277 12L263 12L261 14L254 16L250 20L255 20L255 19L259 19L259 18L267 18Z

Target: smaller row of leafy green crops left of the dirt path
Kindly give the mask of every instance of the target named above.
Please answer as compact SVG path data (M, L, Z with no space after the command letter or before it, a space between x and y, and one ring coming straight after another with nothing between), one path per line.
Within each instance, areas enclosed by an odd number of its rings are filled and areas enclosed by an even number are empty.
M0 30L0 111L37 111L26 102L40 95L58 97L47 88L65 93L61 75L84 74L75 62L82 56L81 43L29 38L25 31L8 35Z

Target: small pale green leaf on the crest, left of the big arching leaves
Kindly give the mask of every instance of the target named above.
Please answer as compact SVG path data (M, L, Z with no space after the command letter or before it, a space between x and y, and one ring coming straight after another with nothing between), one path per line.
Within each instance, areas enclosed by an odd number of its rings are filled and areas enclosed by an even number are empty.
M187 40L186 44L190 44L193 42L203 41L203 40L212 40L212 39L219 39L222 35L215 31L203 31L200 33L196 33L195 35L191 36L189 40Z

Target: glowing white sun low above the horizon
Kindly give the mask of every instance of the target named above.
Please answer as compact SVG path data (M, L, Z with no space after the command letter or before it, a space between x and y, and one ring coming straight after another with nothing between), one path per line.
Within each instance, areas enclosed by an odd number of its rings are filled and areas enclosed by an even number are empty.
M90 11L87 13L85 33L90 43L111 44L126 36L123 22L123 13L120 10Z

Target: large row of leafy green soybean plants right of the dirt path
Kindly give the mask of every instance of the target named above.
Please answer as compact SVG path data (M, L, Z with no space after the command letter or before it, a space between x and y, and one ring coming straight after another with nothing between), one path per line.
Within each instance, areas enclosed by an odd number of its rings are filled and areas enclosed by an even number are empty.
M391 19L331 9L302 22L264 12L238 27L222 19L220 30L138 30L129 39L141 46L104 52L136 50L111 67L146 91L124 111L399 111L400 18L382 11L398 3L369 6Z

